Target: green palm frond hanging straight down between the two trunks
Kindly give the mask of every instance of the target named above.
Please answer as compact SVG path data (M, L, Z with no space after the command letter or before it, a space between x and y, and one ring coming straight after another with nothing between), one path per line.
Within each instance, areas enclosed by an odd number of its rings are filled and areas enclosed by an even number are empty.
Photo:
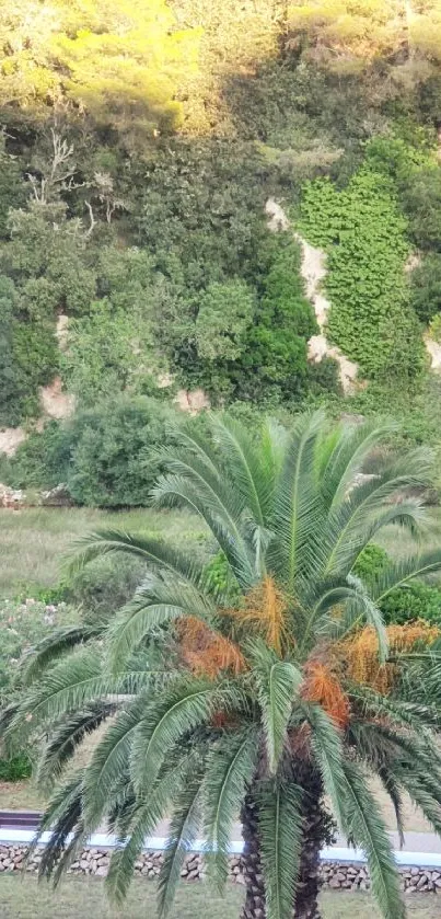
M259 795L259 835L268 919L292 915L302 847L302 789L267 786Z

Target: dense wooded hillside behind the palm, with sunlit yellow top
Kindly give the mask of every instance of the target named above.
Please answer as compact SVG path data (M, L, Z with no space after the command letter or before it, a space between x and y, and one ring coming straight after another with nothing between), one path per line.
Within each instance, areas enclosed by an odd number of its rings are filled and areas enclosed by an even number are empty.
M0 0L0 67L3 481L142 504L195 391L438 440L440 0Z

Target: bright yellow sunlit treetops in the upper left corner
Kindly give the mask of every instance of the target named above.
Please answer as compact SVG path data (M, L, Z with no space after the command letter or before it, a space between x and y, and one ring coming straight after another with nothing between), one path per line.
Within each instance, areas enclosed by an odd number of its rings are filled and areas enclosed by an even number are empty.
M0 104L63 104L120 131L179 124L200 30L178 30L164 0L0 0Z

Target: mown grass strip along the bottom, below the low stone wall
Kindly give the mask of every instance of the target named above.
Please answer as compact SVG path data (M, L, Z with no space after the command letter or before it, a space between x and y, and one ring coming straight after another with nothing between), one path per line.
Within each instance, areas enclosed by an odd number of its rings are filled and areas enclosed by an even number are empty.
M155 915L154 887L146 881L132 884L129 898L121 910L111 909L105 900L104 885L97 878L71 878L53 893L46 885L37 885L33 877L0 877L1 919L153 919ZM205 884L182 884L170 919L236 919L243 889L228 885L222 896ZM431 894L407 897L409 919L439 919L441 897ZM363 894L326 893L322 897L324 919L374 919L379 914L371 898Z

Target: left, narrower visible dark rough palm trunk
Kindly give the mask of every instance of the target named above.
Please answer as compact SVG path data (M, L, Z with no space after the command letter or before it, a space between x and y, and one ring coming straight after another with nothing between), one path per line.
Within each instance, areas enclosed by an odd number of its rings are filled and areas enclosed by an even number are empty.
M262 874L257 807L247 795L241 812L244 838L243 863L246 882L245 903L241 919L265 919L265 886Z

